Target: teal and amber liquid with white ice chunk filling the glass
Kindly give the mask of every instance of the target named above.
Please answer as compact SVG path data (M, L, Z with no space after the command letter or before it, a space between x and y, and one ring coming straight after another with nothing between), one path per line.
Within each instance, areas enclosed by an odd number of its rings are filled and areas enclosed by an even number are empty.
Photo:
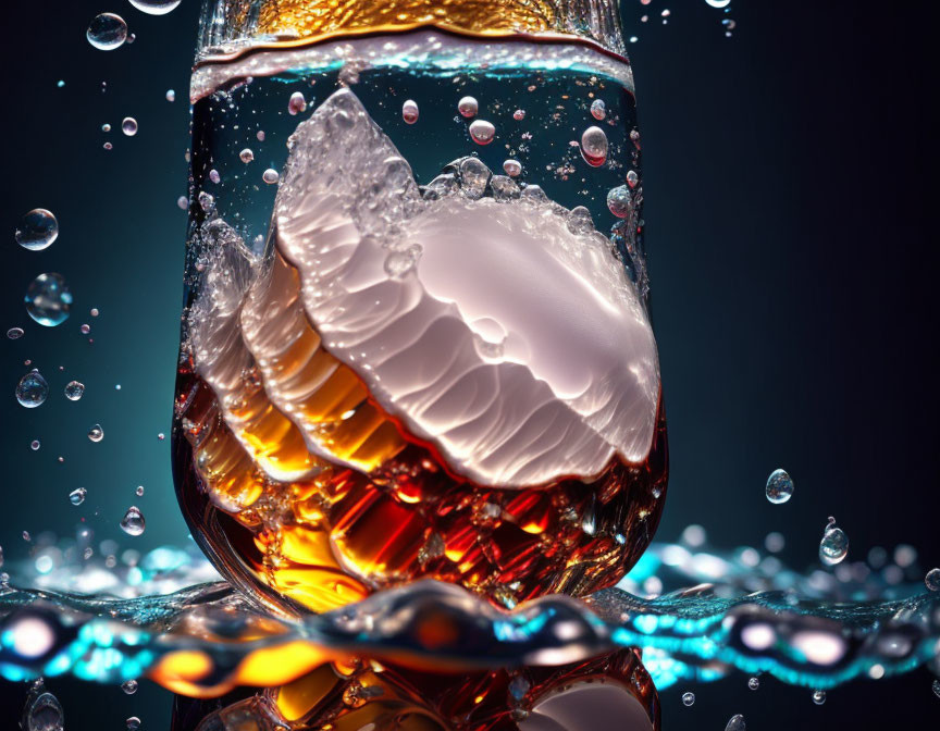
M555 40L197 69L176 485L270 607L422 577L512 607L613 585L648 545L667 457L632 77Z

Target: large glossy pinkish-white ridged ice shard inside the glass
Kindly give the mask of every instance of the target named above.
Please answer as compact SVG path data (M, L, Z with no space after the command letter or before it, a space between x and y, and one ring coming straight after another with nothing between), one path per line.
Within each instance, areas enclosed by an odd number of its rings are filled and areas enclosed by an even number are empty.
M653 439L648 320L609 240L569 218L537 196L423 200L343 89L292 137L272 225L329 354L455 472L508 487L641 462ZM413 267L389 273L407 251Z

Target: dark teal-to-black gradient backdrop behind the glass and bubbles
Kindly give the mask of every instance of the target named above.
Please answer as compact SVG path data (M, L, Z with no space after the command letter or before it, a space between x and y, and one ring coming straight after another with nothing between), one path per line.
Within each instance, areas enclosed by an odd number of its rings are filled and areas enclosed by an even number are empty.
M672 448L658 537L697 522L732 547L777 530L784 559L803 568L834 515L851 556L907 542L940 565L933 3L734 0L731 39L704 0L623 3L628 35L641 37L631 54ZM187 540L169 439L157 434L170 430L197 4L150 17L126 0L4 3L0 325L26 329L0 340L8 561L26 555L23 530L71 532L82 516L124 546ZM133 46L103 53L85 41L106 10L129 21ZM642 10L653 23L636 23ZM125 115L139 134L113 132L106 152L101 124L116 131ZM13 240L35 207L54 211L62 230L39 253ZM22 306L44 271L63 273L75 296L57 329L32 323ZM27 358L52 391L33 411L13 399ZM73 377L87 386L77 404L62 396ZM96 422L100 444L85 436ZM786 506L763 496L776 467L796 481ZM88 490L78 509L66 498L77 486ZM118 530L131 504L147 518L133 540ZM805 690L765 679L753 693L745 682L695 687L691 709L679 702L684 687L667 691L666 731L721 729L733 713L750 729L788 730L930 729L940 717L926 671L833 691L822 707ZM168 726L169 694L150 683L133 697L50 686L70 731L122 729L132 714L144 728ZM0 686L0 728L13 727L20 698Z

